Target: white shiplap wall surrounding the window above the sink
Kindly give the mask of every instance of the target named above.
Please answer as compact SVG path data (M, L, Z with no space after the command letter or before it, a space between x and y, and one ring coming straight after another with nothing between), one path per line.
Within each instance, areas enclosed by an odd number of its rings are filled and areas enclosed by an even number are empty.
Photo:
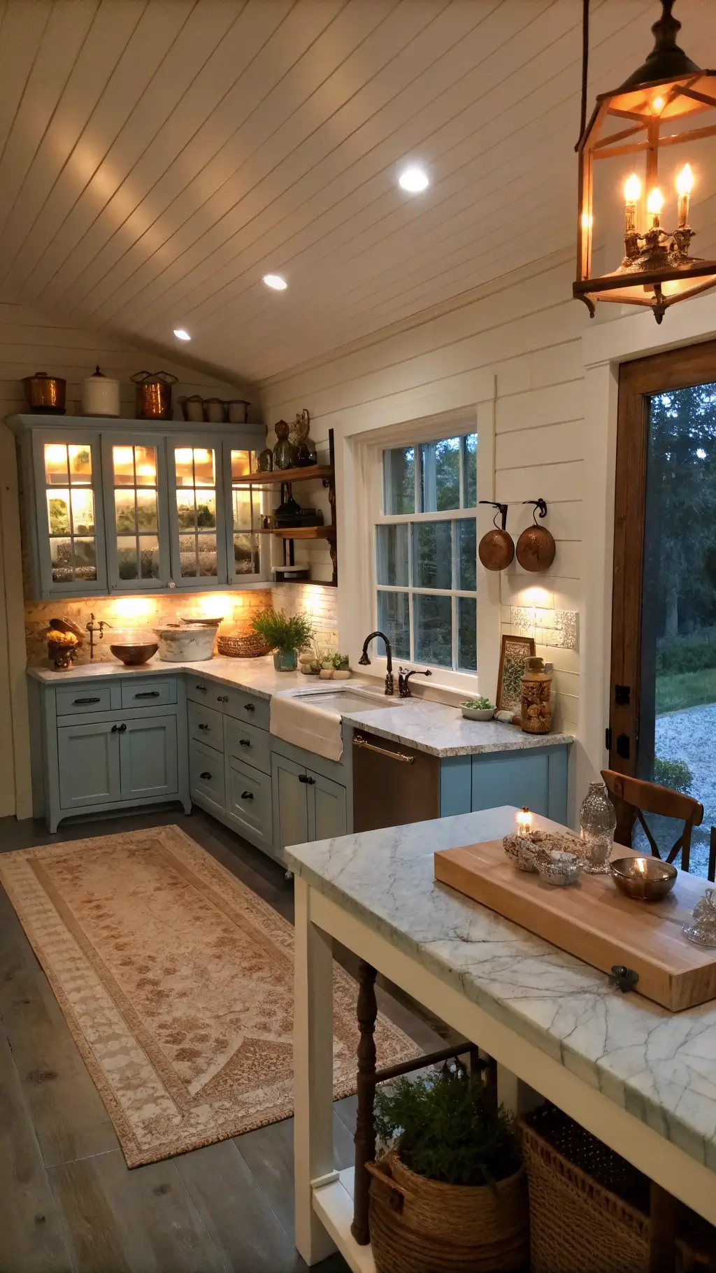
M495 498L544 498L557 541L553 565L529 575L515 563L500 577L500 619L509 631L511 605L580 610L582 554L584 378L581 332L586 311L571 300L572 262L553 258L500 280L469 303L403 331L376 334L342 353L263 384L267 424L308 407L319 449L328 429L336 444L361 432L432 412L495 404ZM341 457L338 456L338 467ZM481 493L487 494L490 493ZM338 526L341 528L338 489ZM515 541L532 509L510 508ZM338 537L338 644L350 639L345 600L366 544ZM314 550L315 556L324 554ZM315 558L314 558L315 559ZM554 663L557 719L579 726L579 651L538 649ZM495 685L481 686L495 694Z

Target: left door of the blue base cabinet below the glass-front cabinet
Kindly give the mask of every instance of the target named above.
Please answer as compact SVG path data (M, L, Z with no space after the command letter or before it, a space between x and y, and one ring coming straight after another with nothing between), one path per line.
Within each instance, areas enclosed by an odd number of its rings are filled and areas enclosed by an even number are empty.
M122 798L120 735L109 722L57 729L60 806L79 810Z

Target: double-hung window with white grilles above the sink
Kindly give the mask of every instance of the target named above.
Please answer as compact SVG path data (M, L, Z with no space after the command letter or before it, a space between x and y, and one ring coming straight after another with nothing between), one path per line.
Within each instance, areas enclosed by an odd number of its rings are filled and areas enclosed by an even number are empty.
M383 451L378 628L396 658L477 671L477 433Z

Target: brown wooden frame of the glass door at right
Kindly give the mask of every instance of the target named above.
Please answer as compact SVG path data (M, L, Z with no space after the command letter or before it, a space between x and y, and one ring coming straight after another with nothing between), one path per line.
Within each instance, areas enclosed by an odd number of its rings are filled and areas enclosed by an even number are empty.
M612 671L609 680L609 768L636 774L640 728L641 601L646 512L649 419L646 400L669 390L716 382L716 340L640 358L619 367L617 467L614 485L614 563L612 592ZM628 703L623 690L628 686ZM628 740L628 757L623 752Z

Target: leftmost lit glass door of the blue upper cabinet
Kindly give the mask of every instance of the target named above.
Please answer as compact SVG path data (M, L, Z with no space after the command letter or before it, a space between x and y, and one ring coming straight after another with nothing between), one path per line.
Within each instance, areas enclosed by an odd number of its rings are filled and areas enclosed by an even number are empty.
M34 439L42 591L81 597L107 587L99 440L56 439Z

